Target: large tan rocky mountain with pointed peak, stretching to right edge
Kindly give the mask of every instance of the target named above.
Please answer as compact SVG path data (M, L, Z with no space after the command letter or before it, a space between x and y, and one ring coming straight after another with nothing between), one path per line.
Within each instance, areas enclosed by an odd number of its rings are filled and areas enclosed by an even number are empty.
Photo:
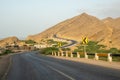
M42 33L28 36L27 39L39 42L42 38L57 35L58 37L81 41L82 36L87 36L89 40L99 41L109 47L112 45L112 47L120 48L119 44L117 44L117 42L120 41L119 29L120 18L112 19L109 17L100 20L94 16L83 13L65 20ZM114 44L110 42L114 42Z

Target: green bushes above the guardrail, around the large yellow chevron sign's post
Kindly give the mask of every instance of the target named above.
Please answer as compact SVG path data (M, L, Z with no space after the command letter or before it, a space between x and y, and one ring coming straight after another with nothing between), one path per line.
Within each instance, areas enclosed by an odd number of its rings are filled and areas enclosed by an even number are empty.
M77 46L77 49L75 49L75 52L84 52L84 46L80 44L80 46ZM117 48L110 48L109 50L106 49L105 45L100 45L98 42L95 41L89 41L88 44L86 44L86 52L87 53L120 53L120 50Z

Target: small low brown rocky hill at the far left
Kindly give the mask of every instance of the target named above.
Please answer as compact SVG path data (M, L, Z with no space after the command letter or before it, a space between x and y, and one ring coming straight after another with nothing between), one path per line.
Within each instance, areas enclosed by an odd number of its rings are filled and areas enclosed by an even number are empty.
M19 42L19 39L15 36L4 38L4 39L0 40L0 47L4 47L6 45L11 45L11 44L14 44L15 42L16 43Z

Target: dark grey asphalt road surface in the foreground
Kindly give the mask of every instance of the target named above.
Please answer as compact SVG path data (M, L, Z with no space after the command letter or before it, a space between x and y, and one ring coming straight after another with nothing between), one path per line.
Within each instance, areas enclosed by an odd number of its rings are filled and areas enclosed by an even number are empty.
M120 70L28 52L13 56L7 80L120 80Z

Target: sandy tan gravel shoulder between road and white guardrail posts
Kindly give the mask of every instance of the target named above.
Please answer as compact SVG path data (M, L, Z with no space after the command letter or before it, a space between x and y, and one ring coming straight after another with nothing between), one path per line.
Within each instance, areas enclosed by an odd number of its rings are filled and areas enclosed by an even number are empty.
M76 62L82 62L107 68L119 69L120 70L120 62L107 62L101 60L94 60L94 59L85 59L85 58L70 58L70 57L61 57L61 56L49 56L53 58L63 59L63 60L70 60Z

